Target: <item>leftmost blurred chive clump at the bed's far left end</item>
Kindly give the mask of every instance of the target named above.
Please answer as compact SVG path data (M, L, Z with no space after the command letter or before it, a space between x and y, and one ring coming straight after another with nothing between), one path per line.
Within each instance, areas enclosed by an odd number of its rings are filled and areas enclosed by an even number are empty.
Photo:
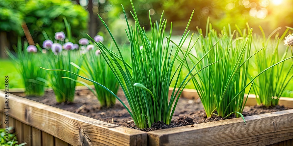
M44 54L36 46L28 46L27 42L24 42L22 48L20 37L18 37L17 47L13 46L13 48L16 51L16 56L8 49L6 49L6 53L17 63L18 71L24 80L25 95L44 95L45 82L43 80L46 77L46 73L43 69L38 68L38 66L44 64L44 60L42 59Z

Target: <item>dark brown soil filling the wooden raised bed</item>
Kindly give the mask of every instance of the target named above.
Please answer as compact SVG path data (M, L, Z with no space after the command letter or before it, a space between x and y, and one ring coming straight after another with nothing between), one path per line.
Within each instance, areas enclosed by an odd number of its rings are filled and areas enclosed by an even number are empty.
M20 94L20 96L24 96ZM122 90L119 90L117 96L129 107L127 100L124 96ZM53 91L47 91L43 97L25 97L31 100L44 103L46 105L51 105L53 107L61 108L70 112L75 112L87 117L105 121L108 123L125 126L129 128L139 129L134 125L130 114L123 107L123 105L116 100L116 105L113 108L100 108L100 104L97 98L93 95L90 90L79 90L76 91L76 95L73 103L64 104L57 103L55 100L55 95ZM270 107L266 109L262 106L251 106L245 107L243 110L243 116L251 116L263 113L276 112L280 110L289 109L284 106ZM235 118L235 116L230 116L230 118ZM158 121L151 125L151 128L139 129L142 131L153 131L164 128L172 128L179 126L186 126L192 124L200 124L211 121L219 121L224 118L212 116L207 118L205 110L200 102L200 100L190 100L186 98L180 98L176 106L176 110L173 114L173 119L170 125L165 124L162 121Z

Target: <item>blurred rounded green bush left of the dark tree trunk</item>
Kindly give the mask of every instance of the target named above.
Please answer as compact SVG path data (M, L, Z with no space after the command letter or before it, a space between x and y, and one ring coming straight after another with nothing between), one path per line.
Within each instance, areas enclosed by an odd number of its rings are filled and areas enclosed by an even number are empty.
M21 25L26 23L35 43L44 41L42 31L54 37L64 31L63 17L71 24L72 34L80 38L88 32L88 11L69 0L1 0L0 30L7 33L7 40L16 44L16 36L24 36ZM78 40L77 40L78 41Z

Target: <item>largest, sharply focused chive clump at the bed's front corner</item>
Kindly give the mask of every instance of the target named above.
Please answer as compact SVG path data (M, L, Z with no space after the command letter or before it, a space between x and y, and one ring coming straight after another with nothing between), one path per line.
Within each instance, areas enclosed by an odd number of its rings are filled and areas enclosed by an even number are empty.
M111 94L113 94L130 113L137 127L147 128L150 127L152 123L157 121L163 121L166 124L170 124L180 94L182 93L183 88L185 88L186 84L188 83L188 81L191 80L192 77L189 79L187 78L189 77L192 70L196 67L196 65L194 65L190 69L190 72L186 74L183 81L178 81L178 79L180 78L181 70L184 65L184 61L190 53L191 48L193 48L193 46L195 46L196 44L196 42L191 43L193 40L192 34L190 41L188 41L188 48L185 50L186 52L183 53L183 57L181 58L181 61L176 67L176 71L172 72L172 68L175 65L175 61L178 59L178 54L182 52L182 45L187 39L188 35L190 34L190 31L187 31L187 29L190 24L193 13L183 33L183 36L177 45L171 40L172 23L170 34L168 34L168 36L165 37L167 22L166 20L162 19L163 13L159 22L154 23L151 21L149 14L151 23L151 36L148 36L144 28L139 25L139 20L137 18L137 14L135 12L132 1L131 4L133 7L133 13L130 13L135 20L135 26L129 25L126 13L122 6L125 15L125 20L127 23L127 29L125 31L130 41L131 49L129 54L122 55L120 47L116 43L108 26L105 24L105 22L100 16L99 18L101 19L106 29L108 30L111 38L113 39L113 42L115 44L115 47L117 48L118 53L114 53L111 49L107 48L101 42L96 42L96 45L101 51L101 55L106 60L110 69L117 78L125 94L125 97L129 103L130 109L112 91L110 91L102 84L91 79L87 79L85 77L82 78L92 81L93 83L98 84L99 86L102 86ZM207 51L207 53L208 52L209 51ZM131 55L131 65L129 65L124 60L124 58L126 58L129 55ZM205 55L202 58L204 57ZM199 61L201 59L199 59ZM209 65L206 65L205 67ZM201 69L194 73L194 75L200 72L200 70ZM178 74L176 74L176 72L178 72ZM77 76L81 77L80 75ZM174 88L171 94L171 98L169 100L169 87L173 80L175 81L175 86L177 84L179 84L180 86L179 90L177 91Z

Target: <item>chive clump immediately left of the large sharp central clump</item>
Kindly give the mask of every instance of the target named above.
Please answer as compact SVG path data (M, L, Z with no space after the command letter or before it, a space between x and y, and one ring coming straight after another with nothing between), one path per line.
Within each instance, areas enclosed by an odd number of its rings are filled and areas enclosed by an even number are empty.
M80 69L80 71L83 72L89 79L97 81L111 90L114 94L117 94L119 83L112 70L107 65L107 62L101 55L100 50L95 49L96 47L91 48L90 45L88 45L87 48L88 51L82 55L84 60L83 67L85 69L82 69L80 66L73 63L71 64ZM90 86L88 86L88 84L82 81L76 82L87 86L97 97L101 107L113 107L113 105L115 105L116 97L98 84L94 84L95 90L93 90Z

